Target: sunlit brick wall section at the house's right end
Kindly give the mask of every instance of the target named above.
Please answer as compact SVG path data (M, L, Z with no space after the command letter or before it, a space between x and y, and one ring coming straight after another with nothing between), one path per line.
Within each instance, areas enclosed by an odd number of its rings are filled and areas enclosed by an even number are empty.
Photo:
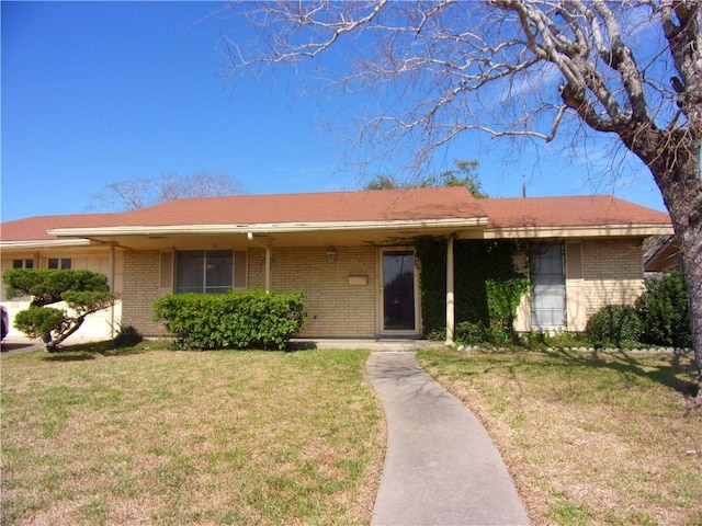
M584 241L582 277L588 318L607 305L633 304L644 291L641 241Z

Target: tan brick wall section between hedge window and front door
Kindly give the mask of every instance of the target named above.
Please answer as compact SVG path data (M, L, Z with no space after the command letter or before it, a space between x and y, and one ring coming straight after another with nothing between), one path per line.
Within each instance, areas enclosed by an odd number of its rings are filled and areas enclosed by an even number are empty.
M309 325L302 336L372 336L375 334L376 252L371 247L338 247L335 262L325 248L273 249L273 290L302 290ZM261 254L264 256L264 254ZM256 284L262 265L249 251L249 279ZM365 284L349 284L365 276ZM363 278L355 278L363 282Z

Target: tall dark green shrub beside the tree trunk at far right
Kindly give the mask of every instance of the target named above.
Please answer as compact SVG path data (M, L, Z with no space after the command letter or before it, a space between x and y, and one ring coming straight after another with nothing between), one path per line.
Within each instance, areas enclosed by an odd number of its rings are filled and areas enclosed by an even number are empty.
M679 271L646 279L646 290L636 302L644 323L643 341L656 345L692 346L692 325L683 275Z

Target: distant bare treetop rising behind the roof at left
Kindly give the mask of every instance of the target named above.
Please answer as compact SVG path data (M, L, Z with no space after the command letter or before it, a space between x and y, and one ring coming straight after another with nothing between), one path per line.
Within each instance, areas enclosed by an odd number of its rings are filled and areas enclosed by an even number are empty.
M239 183L224 172L170 172L158 179L129 179L110 183L104 193L93 195L90 209L134 210L167 201L242 194Z

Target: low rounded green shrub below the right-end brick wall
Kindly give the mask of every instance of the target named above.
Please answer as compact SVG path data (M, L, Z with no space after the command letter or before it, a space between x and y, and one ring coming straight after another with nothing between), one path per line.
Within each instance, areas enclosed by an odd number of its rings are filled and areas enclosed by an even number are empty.
M596 312L586 328L588 339L596 346L621 346L624 342L638 342L643 323L632 305L609 305Z

